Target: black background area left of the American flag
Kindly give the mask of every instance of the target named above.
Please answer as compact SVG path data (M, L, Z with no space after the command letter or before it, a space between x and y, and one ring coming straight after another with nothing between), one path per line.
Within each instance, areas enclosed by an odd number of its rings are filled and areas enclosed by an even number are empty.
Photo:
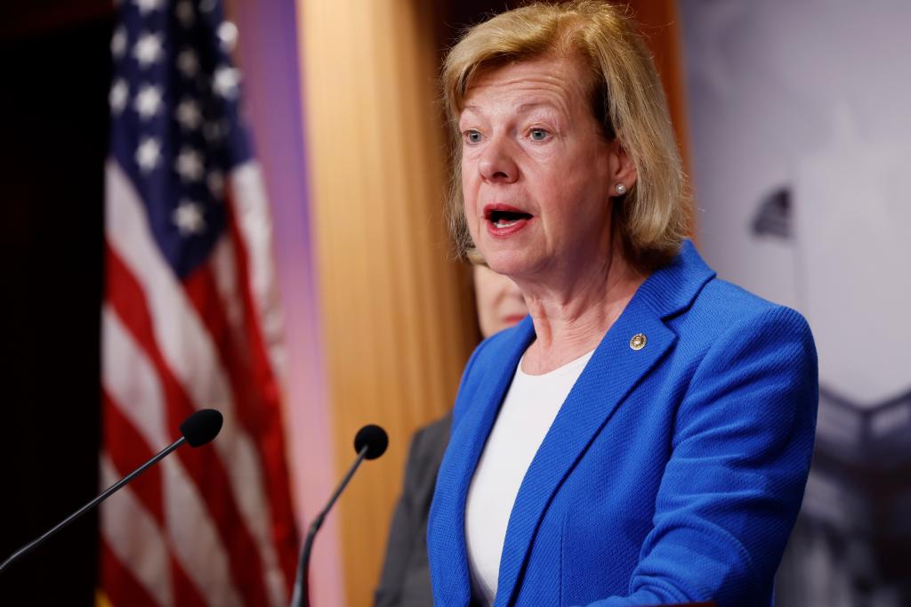
M0 559L97 493L113 15L64 4L0 8ZM92 513L0 574L0 603L93 604L97 541Z

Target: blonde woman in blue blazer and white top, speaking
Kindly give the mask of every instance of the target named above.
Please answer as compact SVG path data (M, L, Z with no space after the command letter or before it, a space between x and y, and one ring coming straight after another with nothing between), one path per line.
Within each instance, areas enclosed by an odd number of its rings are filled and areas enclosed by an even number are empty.
M531 5L445 60L459 252L529 316L466 365L428 528L435 602L770 605L813 450L804 318L715 277L623 12Z

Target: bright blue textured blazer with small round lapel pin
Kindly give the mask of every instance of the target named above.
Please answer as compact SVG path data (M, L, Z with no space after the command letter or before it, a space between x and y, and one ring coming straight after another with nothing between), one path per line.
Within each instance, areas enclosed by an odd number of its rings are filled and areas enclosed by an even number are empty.
M437 605L471 601L468 485L534 337L526 318L466 365L427 531ZM772 604L817 401L803 316L717 279L686 242L610 327L538 448L495 604Z

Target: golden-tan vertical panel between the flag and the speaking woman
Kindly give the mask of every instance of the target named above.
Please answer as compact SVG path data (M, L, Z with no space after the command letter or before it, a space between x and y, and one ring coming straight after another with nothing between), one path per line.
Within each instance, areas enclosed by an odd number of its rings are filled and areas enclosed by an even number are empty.
M451 406L476 321L448 261L435 15L421 0L298 0L313 238L334 461L365 423L390 447L338 505L347 602L379 580L416 427ZM328 498L328 496L326 496Z

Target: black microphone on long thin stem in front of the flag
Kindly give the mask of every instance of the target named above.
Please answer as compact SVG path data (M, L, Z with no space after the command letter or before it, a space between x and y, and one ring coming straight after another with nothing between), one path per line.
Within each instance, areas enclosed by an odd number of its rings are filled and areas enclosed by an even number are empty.
M109 498L114 494L118 489L122 488L133 478L137 478L140 474L145 472L148 468L151 468L159 462L159 459L167 456L171 451L174 451L176 448L179 448L184 443L189 443L190 447L196 448L201 447L208 443L212 438L217 437L219 431L221 430L221 423L224 421L224 418L221 417L221 414L215 409L200 409L196 413L187 417L182 424L180 424L180 434L183 435L171 443L168 447L163 448L159 453L154 457L149 459L145 464L136 468L129 473L128 476L121 478L116 483L105 489L104 493L99 495L96 499L92 499L85 506L80 509L77 509L76 512L69 515L66 519L57 523L56 527L45 532L44 535L28 542L25 546L16 550L12 556L0 563L0 573L5 571L6 566L11 562L16 561L17 559L25 556L32 550L35 550L38 546L48 540L51 536L55 535L57 531L62 530L67 527L71 522L77 520L88 510L95 508L105 499Z

